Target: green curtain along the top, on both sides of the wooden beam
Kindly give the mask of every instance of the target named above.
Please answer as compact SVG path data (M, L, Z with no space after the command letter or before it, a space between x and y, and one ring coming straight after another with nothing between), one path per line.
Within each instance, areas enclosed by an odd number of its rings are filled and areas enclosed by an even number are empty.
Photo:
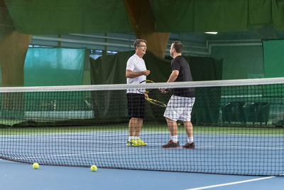
M149 1L157 32L248 31L263 26L284 28L284 4L279 0ZM121 0L4 2L14 26L23 33L133 32ZM143 19L142 16L138 19Z

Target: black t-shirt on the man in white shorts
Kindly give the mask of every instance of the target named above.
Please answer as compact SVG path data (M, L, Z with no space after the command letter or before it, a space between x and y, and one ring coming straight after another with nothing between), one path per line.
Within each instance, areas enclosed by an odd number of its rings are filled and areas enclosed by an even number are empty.
M171 63L172 71L178 70L178 78L175 82L192 81L192 75L190 72L190 65L187 60L182 56L177 56L172 60ZM182 97L195 97L195 88L175 88L174 95Z

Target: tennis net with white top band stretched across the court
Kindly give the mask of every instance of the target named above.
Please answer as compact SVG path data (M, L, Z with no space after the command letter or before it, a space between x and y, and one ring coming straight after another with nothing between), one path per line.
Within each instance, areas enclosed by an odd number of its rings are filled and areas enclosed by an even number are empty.
M179 120L180 147L161 147L170 140L165 106L148 101L140 132L148 145L126 144L126 89L136 88L145 88L148 97L165 105L175 89L195 89L195 149L182 148L187 134ZM171 90L163 94L159 88ZM282 176L283 99L284 78L0 88L0 158L60 166Z

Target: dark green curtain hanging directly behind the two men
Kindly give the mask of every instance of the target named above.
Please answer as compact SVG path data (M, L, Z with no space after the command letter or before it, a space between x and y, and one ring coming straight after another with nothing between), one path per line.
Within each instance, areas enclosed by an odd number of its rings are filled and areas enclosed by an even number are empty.
M120 52L116 55L102 56L97 60L91 59L91 80L92 84L118 84L126 83L125 71L126 62L134 51ZM185 57L192 69L194 80L221 80L222 79L222 60L213 58ZM148 79L155 82L166 82L171 73L170 60L156 58L151 52L143 57L146 67L151 70ZM167 103L170 93L162 95L157 91L149 94L149 97ZM197 97L192 121L195 123L216 123L219 118L220 101L213 101L220 97L221 90L197 89ZM126 122L127 100L125 90L95 91L92 93L94 102L94 117L97 122ZM146 103L146 120L149 122L165 122L163 112L165 108Z

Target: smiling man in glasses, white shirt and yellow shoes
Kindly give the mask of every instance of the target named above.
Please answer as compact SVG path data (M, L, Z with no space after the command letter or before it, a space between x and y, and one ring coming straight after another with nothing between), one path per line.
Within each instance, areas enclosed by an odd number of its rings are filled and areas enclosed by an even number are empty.
M146 76L150 74L150 70L146 69L143 56L146 53L146 41L136 39L134 42L135 54L129 58L126 63L126 79L127 84L139 84L146 80ZM128 110L129 110L129 139L126 145L129 147L146 146L147 143L140 139L139 134L143 125L143 117L145 110L146 93L141 93L141 90L129 89L126 91Z

